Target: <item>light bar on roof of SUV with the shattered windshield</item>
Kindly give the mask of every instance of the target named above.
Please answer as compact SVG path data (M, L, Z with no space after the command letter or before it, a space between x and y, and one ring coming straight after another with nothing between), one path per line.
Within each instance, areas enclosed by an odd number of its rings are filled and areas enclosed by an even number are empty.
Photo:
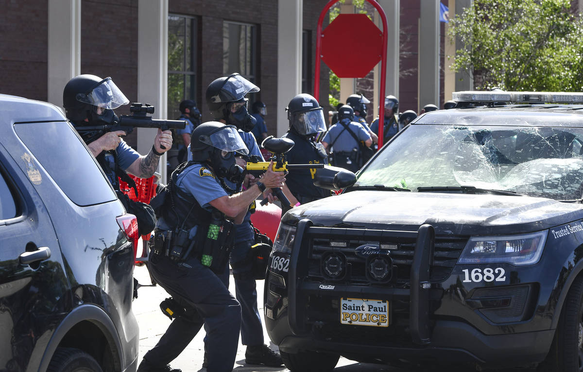
M583 103L583 93L466 90L452 93L452 99L458 102Z

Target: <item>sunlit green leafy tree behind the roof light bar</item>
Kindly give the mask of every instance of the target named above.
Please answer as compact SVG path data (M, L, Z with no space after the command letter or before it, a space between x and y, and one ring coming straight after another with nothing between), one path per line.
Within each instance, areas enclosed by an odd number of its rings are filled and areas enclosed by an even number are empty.
M450 20L452 68L476 89L583 92L583 27L569 0L474 0Z

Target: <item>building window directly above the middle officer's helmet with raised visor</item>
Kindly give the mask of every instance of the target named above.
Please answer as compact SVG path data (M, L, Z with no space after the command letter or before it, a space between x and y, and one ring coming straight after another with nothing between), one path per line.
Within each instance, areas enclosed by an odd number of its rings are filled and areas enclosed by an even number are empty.
M257 84L257 26L223 23L223 73L240 73Z

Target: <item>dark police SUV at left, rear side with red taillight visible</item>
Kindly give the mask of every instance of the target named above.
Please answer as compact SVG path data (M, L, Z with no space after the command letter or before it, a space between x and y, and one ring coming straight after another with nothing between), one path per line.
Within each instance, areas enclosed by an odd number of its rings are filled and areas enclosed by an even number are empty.
M135 216L57 107L0 113L0 370L134 372Z

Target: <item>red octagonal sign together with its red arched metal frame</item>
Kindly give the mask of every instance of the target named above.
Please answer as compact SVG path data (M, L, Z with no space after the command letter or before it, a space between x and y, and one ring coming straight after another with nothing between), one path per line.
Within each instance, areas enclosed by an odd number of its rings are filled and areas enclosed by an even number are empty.
M382 146L385 114L385 76L387 75L387 16L375 0L367 0L373 5L382 20L383 30L364 14L340 14L322 32L324 16L339 0L329 1L320 13L316 39L316 65L314 72L314 96L320 90L320 59L336 73L339 78L364 78L381 59L381 86L378 100L378 148ZM344 45L359 45L359 54L346 53ZM382 120L382 121L381 121Z

